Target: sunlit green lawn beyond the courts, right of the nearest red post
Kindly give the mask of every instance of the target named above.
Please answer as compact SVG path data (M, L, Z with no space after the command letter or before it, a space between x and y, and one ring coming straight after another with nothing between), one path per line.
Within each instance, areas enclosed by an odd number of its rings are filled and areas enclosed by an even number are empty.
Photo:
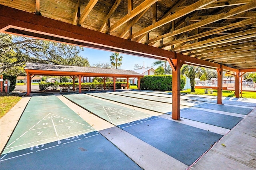
M187 94L194 94L194 95L210 95L210 96L217 96L217 90L212 90L212 94L204 94L205 89L195 89L196 92L190 93L190 89L182 90L180 93L187 93ZM211 90L211 89L210 89ZM208 90L209 91L209 90ZM209 92L208 92L209 93ZM223 90L222 96L224 97L236 97L234 94L234 91L230 90ZM251 91L242 91L242 97L243 98L251 98L256 99L256 92Z

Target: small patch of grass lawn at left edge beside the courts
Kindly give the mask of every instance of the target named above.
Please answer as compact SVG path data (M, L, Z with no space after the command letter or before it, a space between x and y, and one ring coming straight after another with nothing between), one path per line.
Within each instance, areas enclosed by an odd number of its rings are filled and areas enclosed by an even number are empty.
M10 111L20 99L19 96L0 96L0 118Z

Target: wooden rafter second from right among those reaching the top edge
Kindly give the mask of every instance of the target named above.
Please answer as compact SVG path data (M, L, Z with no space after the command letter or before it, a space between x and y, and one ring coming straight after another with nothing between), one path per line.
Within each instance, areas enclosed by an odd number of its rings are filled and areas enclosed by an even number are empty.
M120 26L122 26L123 24L125 24L126 22L131 20L132 18L134 18L136 15L140 14L140 12L146 10L148 7L150 7L152 4L154 4L157 1L158 0L145 0L139 6L134 8L134 10L132 10L130 12L131 13L130 15L126 14L126 16L121 18L118 22L116 22L114 25L110 26L110 28L108 29L107 32L108 33L113 32L114 30L116 30L117 28L119 28Z

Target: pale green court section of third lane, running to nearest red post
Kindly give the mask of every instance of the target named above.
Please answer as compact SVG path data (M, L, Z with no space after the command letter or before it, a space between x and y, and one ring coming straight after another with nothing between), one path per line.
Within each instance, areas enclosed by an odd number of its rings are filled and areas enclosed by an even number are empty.
M170 103L161 103L156 101L148 101L144 99L135 99L135 98L125 97L120 95L113 95L110 93L88 93L88 95L92 95L102 99L107 99L110 101L115 101L125 105L147 109L150 111L155 111L158 113L168 113L172 111L172 104ZM180 108L187 108L187 107L188 106L183 106L183 105L180 106Z

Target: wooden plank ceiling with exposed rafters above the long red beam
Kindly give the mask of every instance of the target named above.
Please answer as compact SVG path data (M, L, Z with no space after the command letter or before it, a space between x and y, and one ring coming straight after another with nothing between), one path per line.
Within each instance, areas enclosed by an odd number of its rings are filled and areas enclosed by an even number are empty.
M1 0L0 4L235 69L256 69L256 0Z

